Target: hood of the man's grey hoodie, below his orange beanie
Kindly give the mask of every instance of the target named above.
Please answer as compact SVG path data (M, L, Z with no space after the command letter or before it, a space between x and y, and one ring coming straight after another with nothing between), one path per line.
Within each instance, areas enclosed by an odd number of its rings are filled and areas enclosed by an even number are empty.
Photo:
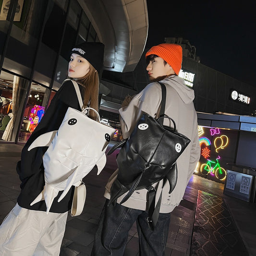
M184 79L178 75L171 75L159 81L171 86L182 98L185 104L191 103L195 98L194 90L185 85Z

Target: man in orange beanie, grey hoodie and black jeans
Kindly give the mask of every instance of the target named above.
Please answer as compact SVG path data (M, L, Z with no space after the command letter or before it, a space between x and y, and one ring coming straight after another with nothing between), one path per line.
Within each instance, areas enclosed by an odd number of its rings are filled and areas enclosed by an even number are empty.
M156 202L162 192L159 217L154 231L148 227L147 189L135 190L127 201L120 204L122 195L115 205L108 202L110 188L117 178L118 170L106 185L106 204L100 216L98 230L92 250L93 256L122 256L128 232L136 221L141 256L163 256L168 238L171 211L180 204L185 188L195 170L200 157L197 130L197 116L193 104L194 91L187 87L178 76L182 66L182 48L176 44L160 44L146 52L146 70L152 83L133 98L126 98L127 106L122 105L120 122L123 138L128 138L141 114L146 112L154 118L159 117L161 103L161 82L166 86L165 114L176 122L177 131L187 136L191 142L177 159L178 179L169 194L170 184L163 180L153 184ZM128 102L130 100L130 102ZM170 125L168 119L164 125ZM145 142L146 143L146 142Z

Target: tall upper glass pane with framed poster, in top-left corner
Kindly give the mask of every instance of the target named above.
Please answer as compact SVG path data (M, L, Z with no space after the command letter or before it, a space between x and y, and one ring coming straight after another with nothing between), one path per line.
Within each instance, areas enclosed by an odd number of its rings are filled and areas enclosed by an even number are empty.
M18 0L3 68L30 76L46 7L47 1Z

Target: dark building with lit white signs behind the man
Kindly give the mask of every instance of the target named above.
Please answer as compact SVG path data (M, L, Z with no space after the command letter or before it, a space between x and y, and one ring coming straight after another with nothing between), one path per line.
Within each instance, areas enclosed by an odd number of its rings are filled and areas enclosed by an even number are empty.
M185 46L181 44L183 48ZM131 90L131 94L136 94L149 83L146 71L144 53L134 72L114 73L104 71L102 79L115 86ZM198 57L189 57L186 49L183 49L183 63L180 76L185 79L186 85L195 91L195 110L205 113L230 113L234 115L251 115L256 110L256 87L245 84L229 75L214 70L202 64ZM193 55L193 54L192 54ZM237 98L232 98L232 92L237 92ZM127 93L128 94L128 93ZM120 97L122 96L122 97ZM123 95L111 91L107 96L109 100L122 102Z

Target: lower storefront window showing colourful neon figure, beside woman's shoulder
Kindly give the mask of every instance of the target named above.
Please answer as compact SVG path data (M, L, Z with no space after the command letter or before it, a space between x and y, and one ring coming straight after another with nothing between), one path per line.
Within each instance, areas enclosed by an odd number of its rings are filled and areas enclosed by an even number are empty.
M26 142L41 121L47 107L48 95L48 88L32 83L19 132L19 142Z

